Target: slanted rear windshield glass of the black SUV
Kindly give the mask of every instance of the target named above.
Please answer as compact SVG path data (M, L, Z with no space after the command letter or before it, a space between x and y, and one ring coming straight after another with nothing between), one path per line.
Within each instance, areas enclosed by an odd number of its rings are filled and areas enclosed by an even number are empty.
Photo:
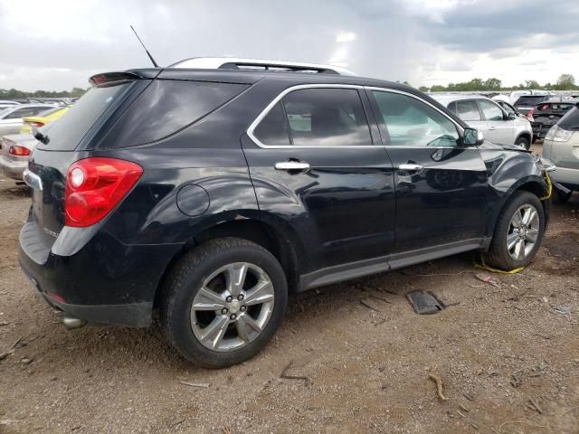
M38 147L58 151L74 150L81 143L82 137L89 132L90 127L110 107L113 101L119 99L128 85L128 81L118 81L91 88L62 118L52 122L50 132L41 128L41 132L48 135L49 142L47 145L41 144Z

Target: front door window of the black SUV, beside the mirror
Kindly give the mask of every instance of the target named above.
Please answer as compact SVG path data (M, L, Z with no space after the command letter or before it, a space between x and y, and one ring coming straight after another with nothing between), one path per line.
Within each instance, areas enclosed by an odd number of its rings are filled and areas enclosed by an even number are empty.
M438 110L406 95L377 90L373 93L391 145L459 146L455 125Z

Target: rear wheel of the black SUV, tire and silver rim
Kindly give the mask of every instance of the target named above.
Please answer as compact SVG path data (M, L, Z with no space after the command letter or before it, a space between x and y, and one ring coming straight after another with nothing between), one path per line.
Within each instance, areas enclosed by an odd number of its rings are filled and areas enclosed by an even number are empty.
M243 276L244 283L232 284L232 276ZM244 297L242 301L235 294ZM229 296L233 300L227 301ZM280 327L287 302L280 262L251 241L223 238L207 241L176 263L166 280L161 322L171 344L187 360L221 368L259 353Z

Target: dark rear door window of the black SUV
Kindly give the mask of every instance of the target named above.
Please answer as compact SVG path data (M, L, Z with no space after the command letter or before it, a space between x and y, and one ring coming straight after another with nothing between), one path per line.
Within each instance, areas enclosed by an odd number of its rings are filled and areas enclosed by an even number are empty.
M254 134L267 146L372 145L355 89L293 90L270 110Z

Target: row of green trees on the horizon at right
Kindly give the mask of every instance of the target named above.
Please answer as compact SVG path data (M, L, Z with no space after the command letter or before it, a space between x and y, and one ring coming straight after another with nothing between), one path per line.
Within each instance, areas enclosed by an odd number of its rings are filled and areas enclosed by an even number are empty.
M404 84L407 84L404 81ZM418 88L423 92L448 92L448 91L501 91L501 90L579 90L575 86L574 76L571 74L561 74L555 83L539 84L536 80L525 80L518 86L503 88L501 80L492 78L488 80L472 79L462 83L450 83L448 86L434 85L432 87L421 86Z

